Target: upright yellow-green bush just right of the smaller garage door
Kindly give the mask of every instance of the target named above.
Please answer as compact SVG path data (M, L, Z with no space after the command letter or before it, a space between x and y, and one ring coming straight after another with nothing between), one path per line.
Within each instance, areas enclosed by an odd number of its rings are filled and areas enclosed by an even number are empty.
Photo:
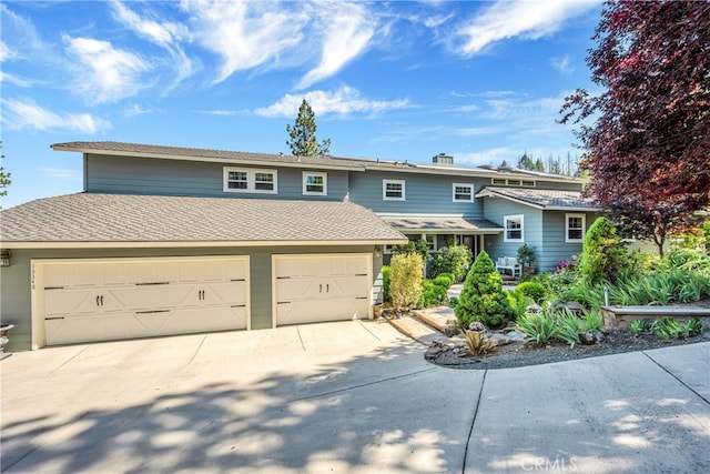
M398 253L392 256L389 263L392 303L399 311L408 311L416 306L422 297L424 259L418 253Z

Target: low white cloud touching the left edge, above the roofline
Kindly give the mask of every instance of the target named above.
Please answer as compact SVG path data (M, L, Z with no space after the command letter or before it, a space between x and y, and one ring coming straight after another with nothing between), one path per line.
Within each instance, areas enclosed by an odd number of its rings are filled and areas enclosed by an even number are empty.
M67 131L97 133L111 128L111 123L90 113L55 113L38 105L31 99L3 100L2 123L10 130Z

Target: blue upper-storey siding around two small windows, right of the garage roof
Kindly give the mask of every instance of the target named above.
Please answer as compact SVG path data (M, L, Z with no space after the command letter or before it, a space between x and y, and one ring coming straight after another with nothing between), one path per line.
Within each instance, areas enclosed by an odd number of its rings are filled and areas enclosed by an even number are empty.
M405 201L386 201L382 195L383 180L404 180ZM483 219L483 201L453 202L453 184L474 184L474 194L490 180L450 175L426 175L418 173L395 173L367 171L351 173L349 198L375 212L403 214L459 214Z

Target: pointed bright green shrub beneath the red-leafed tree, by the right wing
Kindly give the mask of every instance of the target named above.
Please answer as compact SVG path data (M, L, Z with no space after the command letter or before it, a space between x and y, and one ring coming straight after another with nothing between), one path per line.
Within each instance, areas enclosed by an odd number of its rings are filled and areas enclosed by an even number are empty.
M579 270L591 283L616 282L628 266L626 245L607 218L597 219L587 231L579 256Z

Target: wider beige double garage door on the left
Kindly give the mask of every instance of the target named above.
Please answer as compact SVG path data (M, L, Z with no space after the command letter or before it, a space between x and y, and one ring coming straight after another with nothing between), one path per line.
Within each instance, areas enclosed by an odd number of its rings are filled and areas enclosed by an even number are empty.
M41 264L47 345L246 329L248 256Z

